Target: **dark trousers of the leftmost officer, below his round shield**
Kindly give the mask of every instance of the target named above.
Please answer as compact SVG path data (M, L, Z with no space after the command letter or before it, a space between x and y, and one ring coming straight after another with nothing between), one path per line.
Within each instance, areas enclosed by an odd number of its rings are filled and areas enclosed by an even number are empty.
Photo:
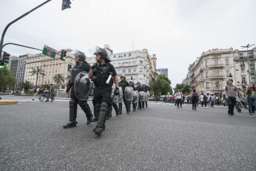
M76 122L77 104L86 113L87 120L92 120L92 111L87 103L87 100L79 100L74 94L74 88L71 88L71 100L69 101L69 121Z

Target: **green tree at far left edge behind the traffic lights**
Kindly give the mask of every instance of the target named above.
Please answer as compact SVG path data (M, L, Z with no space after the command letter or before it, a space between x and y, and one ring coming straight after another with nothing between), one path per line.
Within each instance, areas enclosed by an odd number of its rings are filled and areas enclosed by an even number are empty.
M10 75L10 71L7 68L7 65L4 64L4 68L1 68L0 71L3 71L0 77L0 87L2 88L8 88L8 87L14 87L16 84L16 78Z

